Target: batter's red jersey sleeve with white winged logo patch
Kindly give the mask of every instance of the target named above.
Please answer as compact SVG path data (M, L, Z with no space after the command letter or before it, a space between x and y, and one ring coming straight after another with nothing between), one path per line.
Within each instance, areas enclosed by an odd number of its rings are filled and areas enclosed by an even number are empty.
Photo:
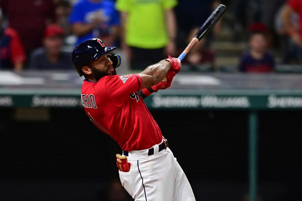
M123 106L130 94L141 90L142 79L138 74L108 76L105 89L109 99L117 106Z

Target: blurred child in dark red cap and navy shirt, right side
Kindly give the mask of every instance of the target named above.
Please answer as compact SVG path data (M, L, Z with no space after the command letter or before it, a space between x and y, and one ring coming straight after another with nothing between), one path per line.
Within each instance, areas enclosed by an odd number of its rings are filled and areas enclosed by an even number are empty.
M268 73L274 71L274 58L267 50L268 28L262 23L249 26L249 52L244 53L238 70L240 72Z

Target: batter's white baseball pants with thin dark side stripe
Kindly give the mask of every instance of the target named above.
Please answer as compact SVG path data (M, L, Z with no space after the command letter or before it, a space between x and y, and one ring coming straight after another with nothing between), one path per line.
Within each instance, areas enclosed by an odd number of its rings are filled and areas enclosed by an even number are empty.
M119 171L120 181L135 201L195 201L189 181L167 148L148 156L148 149L128 152L129 172ZM124 155L123 155L124 156Z

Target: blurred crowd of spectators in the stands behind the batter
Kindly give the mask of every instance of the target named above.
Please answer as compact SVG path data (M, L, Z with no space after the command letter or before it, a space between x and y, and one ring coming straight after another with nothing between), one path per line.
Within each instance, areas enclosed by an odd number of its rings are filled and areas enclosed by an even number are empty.
M226 29L229 42L247 44L237 71L302 64L301 0L0 0L0 69L72 69L73 48L100 38L120 47L129 69L143 70L178 57L219 4L228 11L184 58L188 70L218 69L212 44Z

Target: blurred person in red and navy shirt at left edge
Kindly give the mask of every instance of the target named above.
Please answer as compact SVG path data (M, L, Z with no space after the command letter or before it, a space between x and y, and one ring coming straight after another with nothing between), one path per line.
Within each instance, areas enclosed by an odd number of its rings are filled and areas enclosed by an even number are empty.
M0 69L21 70L26 54L20 36L13 28L3 27L3 15L0 9Z

